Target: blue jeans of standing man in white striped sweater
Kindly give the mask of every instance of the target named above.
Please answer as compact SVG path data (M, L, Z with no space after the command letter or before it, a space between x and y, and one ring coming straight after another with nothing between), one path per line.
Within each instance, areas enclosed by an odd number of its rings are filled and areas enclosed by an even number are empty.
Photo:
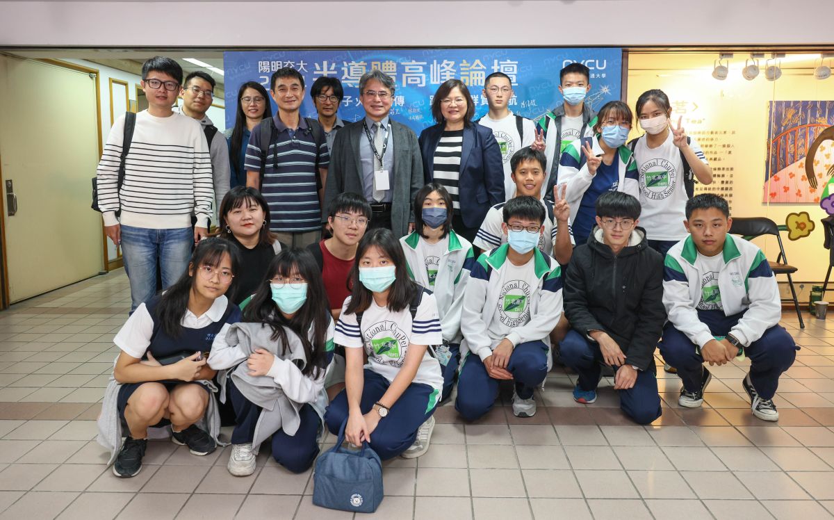
M194 245L191 228L149 230L122 226L122 260L130 281L130 312L156 292L157 260L162 286L168 289L188 269Z

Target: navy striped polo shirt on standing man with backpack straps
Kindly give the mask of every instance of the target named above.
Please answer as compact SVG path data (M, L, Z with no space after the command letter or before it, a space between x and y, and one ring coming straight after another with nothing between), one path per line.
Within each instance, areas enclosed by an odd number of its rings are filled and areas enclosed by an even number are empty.
M327 169L330 155L327 141L318 146L304 118L299 128L288 129L276 114L275 129L266 151L266 168L261 194L269 204L269 229L282 233L304 233L321 229L319 168ZM264 144L255 129L246 147L244 168L260 171Z

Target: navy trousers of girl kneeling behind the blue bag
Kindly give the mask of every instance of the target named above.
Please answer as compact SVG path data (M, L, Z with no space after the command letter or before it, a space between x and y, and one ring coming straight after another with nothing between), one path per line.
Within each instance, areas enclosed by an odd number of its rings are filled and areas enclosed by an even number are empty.
M384 376L368 369L364 370L362 399L359 401L359 408L363 414L371 411L374 403L384 396L390 385ZM394 406L391 406L388 417L380 419L376 429L370 433L370 447L379 458L387 460L397 457L414 444L420 425L435 413L438 393L423 383L412 382L405 389ZM348 394L343 390L330 403L327 413L324 414L324 422L331 433L339 434L339 428L348 418L348 411Z

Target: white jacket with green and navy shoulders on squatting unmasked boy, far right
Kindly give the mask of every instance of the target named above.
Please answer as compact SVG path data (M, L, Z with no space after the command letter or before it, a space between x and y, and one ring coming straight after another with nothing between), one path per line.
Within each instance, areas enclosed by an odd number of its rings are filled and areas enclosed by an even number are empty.
M663 275L663 305L669 321L699 348L713 339L709 326L698 318L697 306L704 300L706 279L716 279L709 289L720 294L725 316L744 313L731 328L741 345L749 346L776 326L781 318L781 299L764 253L747 240L726 235L721 252L721 270L704 272L698 266L698 251L691 236L673 245L666 254ZM717 288L717 291L716 291Z

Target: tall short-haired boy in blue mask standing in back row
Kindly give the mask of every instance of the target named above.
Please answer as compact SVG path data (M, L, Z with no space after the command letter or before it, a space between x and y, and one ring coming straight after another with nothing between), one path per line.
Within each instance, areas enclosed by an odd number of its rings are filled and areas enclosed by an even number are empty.
M576 139L592 137L596 114L585 97L590 92L590 70L582 63L569 63L559 71L559 92L564 101L538 120L545 131L545 184L542 196L550 199L559 179L559 161L568 145Z

